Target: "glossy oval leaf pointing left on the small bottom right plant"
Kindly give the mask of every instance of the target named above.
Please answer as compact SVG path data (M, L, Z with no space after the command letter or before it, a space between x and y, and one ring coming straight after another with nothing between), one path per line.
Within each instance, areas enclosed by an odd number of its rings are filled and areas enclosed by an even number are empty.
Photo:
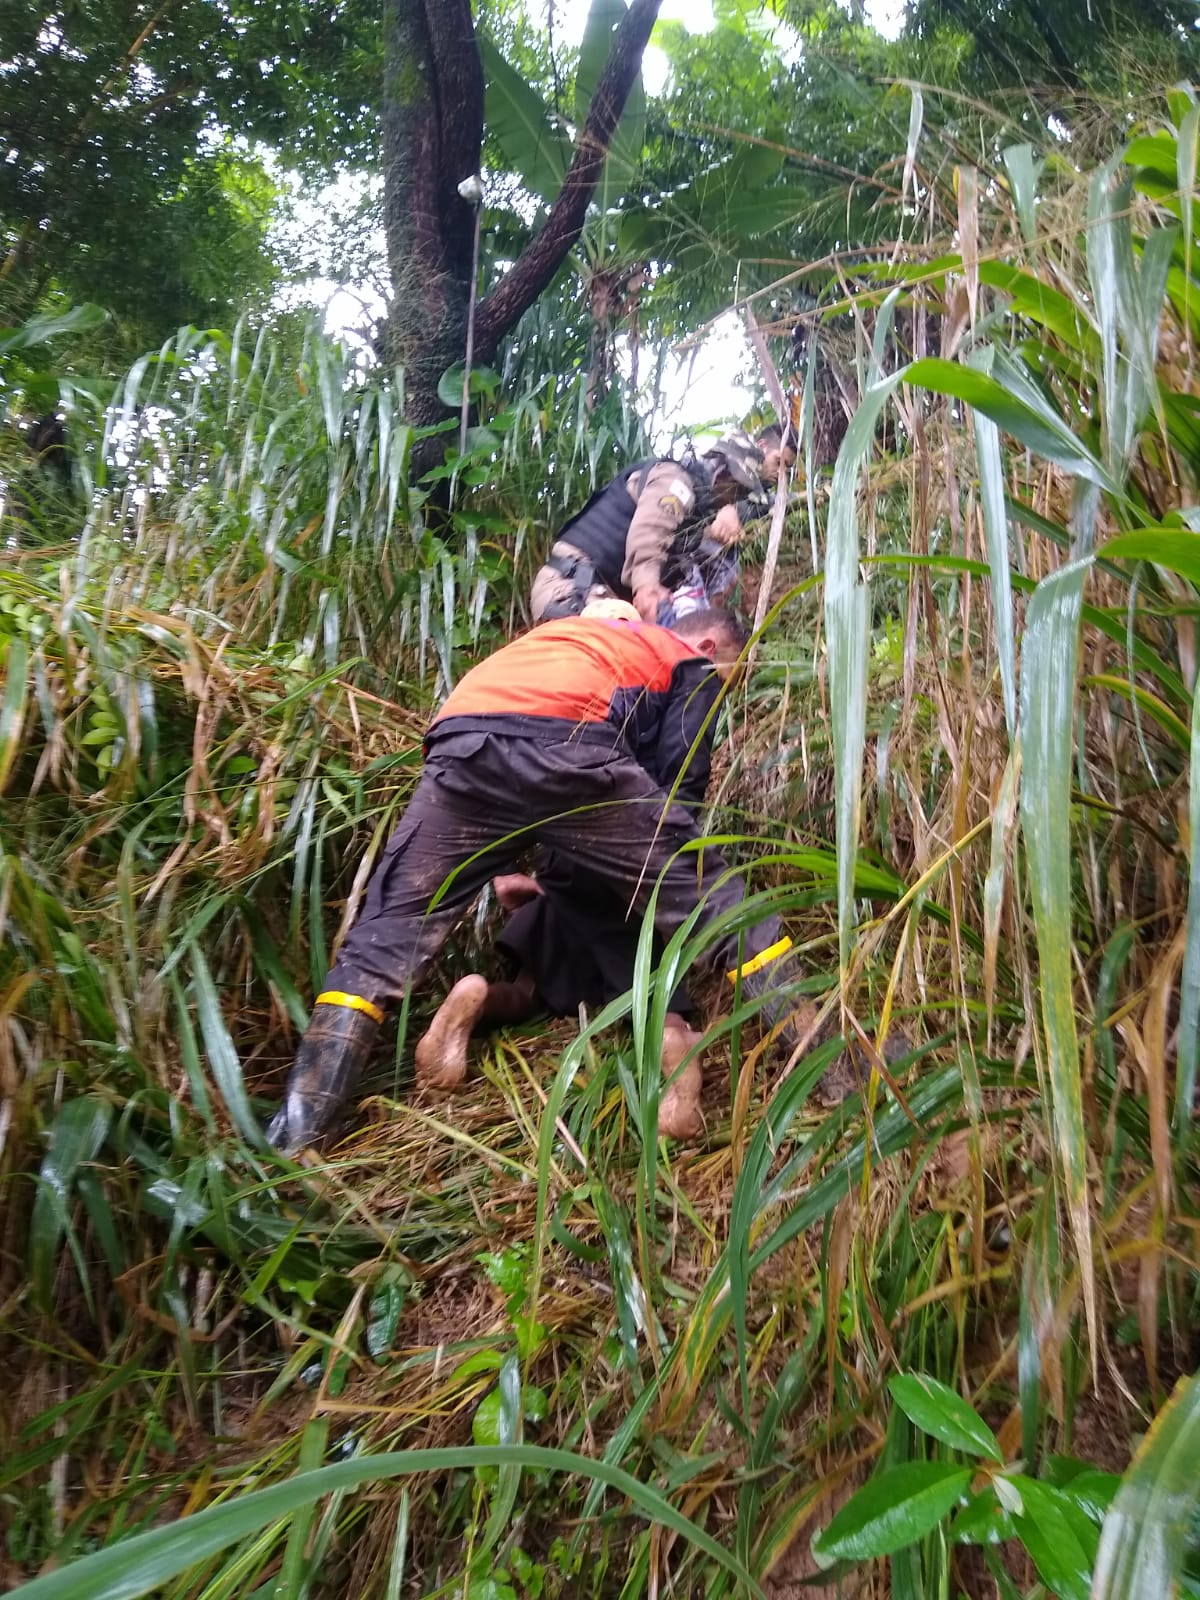
M970 1467L946 1461L909 1461L880 1472L813 1539L813 1555L822 1566L893 1555L931 1533L970 1482Z

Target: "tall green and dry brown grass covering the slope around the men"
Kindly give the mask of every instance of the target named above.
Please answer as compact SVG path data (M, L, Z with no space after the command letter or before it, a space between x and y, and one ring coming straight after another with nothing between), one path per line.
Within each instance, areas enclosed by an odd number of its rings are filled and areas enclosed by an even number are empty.
M1194 1592L1195 1386L1112 1474L1198 1354L1195 128L1125 189L995 141L978 259L854 285L824 573L802 509L712 813L803 1042L714 1006L696 1149L654 1141L694 928L451 1104L402 1045L320 1166L256 1131L427 704L629 421L517 362L434 534L402 386L318 342L78 397L80 523L0 602L30 1600ZM941 138L910 182L958 216Z

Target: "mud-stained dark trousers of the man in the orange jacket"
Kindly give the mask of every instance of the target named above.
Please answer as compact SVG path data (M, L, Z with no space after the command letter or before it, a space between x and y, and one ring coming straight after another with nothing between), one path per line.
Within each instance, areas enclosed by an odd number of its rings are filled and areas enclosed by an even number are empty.
M326 989L398 1002L488 878L514 870L534 843L586 869L637 914L661 875L654 926L667 939L701 901L712 918L742 898L736 877L718 882L717 851L680 853L698 837L688 811L669 806L613 746L502 731L435 736ZM746 930L742 960L778 938L776 918ZM736 962L736 934L706 954L722 970Z

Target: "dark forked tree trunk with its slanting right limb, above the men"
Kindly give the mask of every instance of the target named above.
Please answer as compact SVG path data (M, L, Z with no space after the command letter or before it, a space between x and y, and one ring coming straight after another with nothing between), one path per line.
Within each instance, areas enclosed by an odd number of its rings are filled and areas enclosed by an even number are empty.
M542 229L477 309L478 362L494 362L579 238L659 5L632 0L619 22L563 187ZM483 67L470 0L384 0L384 226L394 298L382 342L389 363L405 370L406 416L424 427L453 416L437 386L467 342L475 219L458 186L480 165ZM440 434L418 440L414 477L440 462L446 445Z

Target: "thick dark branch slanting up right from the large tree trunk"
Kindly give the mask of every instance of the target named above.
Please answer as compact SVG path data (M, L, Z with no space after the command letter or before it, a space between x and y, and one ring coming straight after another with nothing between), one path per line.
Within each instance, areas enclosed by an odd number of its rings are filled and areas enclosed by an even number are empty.
M475 312L478 360L496 358L504 334L547 288L579 238L661 3L662 0L632 0L618 26L558 198L550 206L541 232L530 240L512 270L478 304Z

